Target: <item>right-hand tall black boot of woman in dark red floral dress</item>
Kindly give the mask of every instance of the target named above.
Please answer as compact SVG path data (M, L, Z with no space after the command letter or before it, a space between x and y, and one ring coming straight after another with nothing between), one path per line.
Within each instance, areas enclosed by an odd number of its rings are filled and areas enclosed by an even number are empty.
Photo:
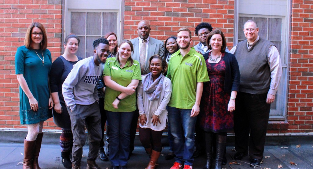
M224 149L226 146L226 137L216 135L216 162L215 169L222 169L222 161L224 156Z

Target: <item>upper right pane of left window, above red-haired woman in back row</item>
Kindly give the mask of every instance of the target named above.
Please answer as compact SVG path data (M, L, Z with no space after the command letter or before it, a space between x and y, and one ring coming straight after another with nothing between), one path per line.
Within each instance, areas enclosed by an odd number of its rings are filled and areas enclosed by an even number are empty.
M103 12L103 30L105 35L108 32L117 34L117 13L116 12Z

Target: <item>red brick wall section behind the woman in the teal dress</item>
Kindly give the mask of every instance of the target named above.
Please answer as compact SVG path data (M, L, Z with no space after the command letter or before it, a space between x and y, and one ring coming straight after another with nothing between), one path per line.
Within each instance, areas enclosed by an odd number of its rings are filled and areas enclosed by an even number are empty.
M61 0L0 0L0 127L26 128L19 122L19 89L14 56L24 45L27 27L44 25L52 57L60 56L62 29ZM55 59L55 58L54 58ZM45 129L55 129L52 118Z

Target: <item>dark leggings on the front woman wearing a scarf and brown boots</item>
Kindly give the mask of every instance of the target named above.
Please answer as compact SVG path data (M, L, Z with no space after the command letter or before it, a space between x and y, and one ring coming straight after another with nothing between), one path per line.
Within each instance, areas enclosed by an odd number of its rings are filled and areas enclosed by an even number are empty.
M162 151L162 131L154 131L150 128L139 127L139 139L143 147L151 148L156 152Z

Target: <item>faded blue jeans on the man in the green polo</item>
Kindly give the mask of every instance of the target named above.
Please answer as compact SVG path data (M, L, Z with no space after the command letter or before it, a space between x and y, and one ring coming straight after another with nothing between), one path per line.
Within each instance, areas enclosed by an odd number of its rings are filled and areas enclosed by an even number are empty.
M179 109L168 106L167 110L171 134L174 137L175 162L192 166L197 117L190 117L191 109Z

